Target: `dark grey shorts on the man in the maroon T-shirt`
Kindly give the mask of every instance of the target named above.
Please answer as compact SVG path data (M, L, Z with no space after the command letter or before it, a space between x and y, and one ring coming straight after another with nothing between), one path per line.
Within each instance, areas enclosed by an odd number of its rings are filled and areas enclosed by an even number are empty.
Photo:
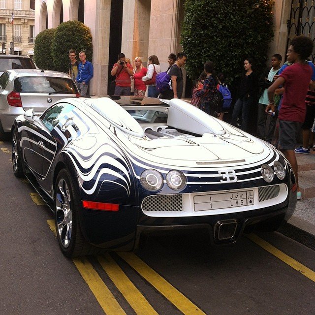
M302 123L279 120L279 144L280 150L294 150L296 138Z

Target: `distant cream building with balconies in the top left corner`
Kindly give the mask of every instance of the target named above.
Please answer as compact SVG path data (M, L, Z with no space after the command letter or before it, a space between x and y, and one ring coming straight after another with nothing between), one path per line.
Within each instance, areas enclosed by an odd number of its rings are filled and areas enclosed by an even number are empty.
M35 0L0 0L0 53L34 54ZM14 46L14 47L13 47Z

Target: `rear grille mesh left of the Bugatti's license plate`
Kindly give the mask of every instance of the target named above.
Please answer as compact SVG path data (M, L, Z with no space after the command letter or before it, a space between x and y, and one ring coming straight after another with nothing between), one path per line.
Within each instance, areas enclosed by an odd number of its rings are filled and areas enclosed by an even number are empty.
M182 211L182 208L181 194L148 196L142 202L143 211Z

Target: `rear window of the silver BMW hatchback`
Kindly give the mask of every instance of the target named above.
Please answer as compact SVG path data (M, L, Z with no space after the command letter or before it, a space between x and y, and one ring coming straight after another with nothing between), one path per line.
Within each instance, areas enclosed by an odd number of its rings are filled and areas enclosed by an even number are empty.
M76 94L77 87L70 78L32 76L15 79L14 91L20 93Z

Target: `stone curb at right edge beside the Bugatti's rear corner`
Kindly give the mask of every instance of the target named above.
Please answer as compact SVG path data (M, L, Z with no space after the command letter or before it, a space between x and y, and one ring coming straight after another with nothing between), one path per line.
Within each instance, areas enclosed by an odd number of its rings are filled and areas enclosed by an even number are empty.
M315 226L313 224L292 217L279 227L278 232L315 251Z

